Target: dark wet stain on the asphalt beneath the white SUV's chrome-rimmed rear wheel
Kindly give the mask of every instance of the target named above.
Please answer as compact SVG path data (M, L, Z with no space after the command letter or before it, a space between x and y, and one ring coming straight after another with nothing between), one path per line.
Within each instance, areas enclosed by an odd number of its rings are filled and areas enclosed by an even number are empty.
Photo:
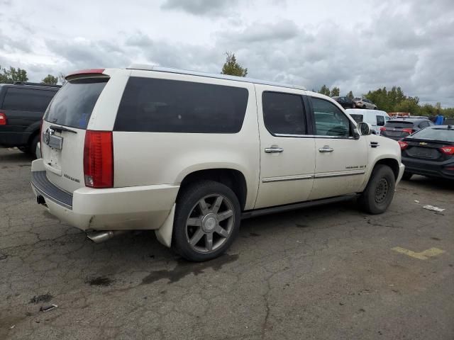
M170 271L153 271L150 275L145 276L142 280L143 285L148 285L149 283L154 283L157 280L161 280L162 278L167 278L169 283L178 282L185 276L189 274L194 274L195 276L204 273L205 269L212 268L214 271L218 271L221 269L225 264L235 262L238 260L238 254L235 255L223 255L218 257L217 259L201 262L201 263L194 263L189 262L184 259L177 261L177 266Z

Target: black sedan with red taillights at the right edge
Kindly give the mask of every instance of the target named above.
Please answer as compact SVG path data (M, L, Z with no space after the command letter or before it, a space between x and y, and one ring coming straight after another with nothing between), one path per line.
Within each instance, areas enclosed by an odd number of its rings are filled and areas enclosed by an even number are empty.
M404 179L414 174L454 179L454 127L435 125L399 140Z

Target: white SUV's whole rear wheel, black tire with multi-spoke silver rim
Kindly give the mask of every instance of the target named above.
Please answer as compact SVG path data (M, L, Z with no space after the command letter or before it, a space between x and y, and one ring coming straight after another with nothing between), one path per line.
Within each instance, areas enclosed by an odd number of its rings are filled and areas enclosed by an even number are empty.
M222 183L199 181L177 199L172 249L189 261L209 261L231 246L240 228L235 193Z

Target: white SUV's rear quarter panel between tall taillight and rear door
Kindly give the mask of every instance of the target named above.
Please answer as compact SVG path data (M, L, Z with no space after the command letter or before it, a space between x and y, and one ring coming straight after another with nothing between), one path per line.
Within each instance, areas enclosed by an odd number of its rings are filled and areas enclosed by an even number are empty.
M248 106L243 127L236 134L114 131L115 186L179 185L185 176L194 171L235 169L245 176L248 188L245 209L253 208L260 164L253 84L136 70L131 72L131 76L243 87L249 91ZM111 122L113 125L114 121Z

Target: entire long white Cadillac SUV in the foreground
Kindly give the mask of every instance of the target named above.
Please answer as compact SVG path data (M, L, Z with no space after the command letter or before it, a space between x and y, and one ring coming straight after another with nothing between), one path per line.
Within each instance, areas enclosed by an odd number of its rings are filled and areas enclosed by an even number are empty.
M95 242L154 229L192 261L240 220L358 196L384 212L404 166L333 99L298 86L162 67L67 76L32 163L37 202ZM379 147L380 146L380 147Z

